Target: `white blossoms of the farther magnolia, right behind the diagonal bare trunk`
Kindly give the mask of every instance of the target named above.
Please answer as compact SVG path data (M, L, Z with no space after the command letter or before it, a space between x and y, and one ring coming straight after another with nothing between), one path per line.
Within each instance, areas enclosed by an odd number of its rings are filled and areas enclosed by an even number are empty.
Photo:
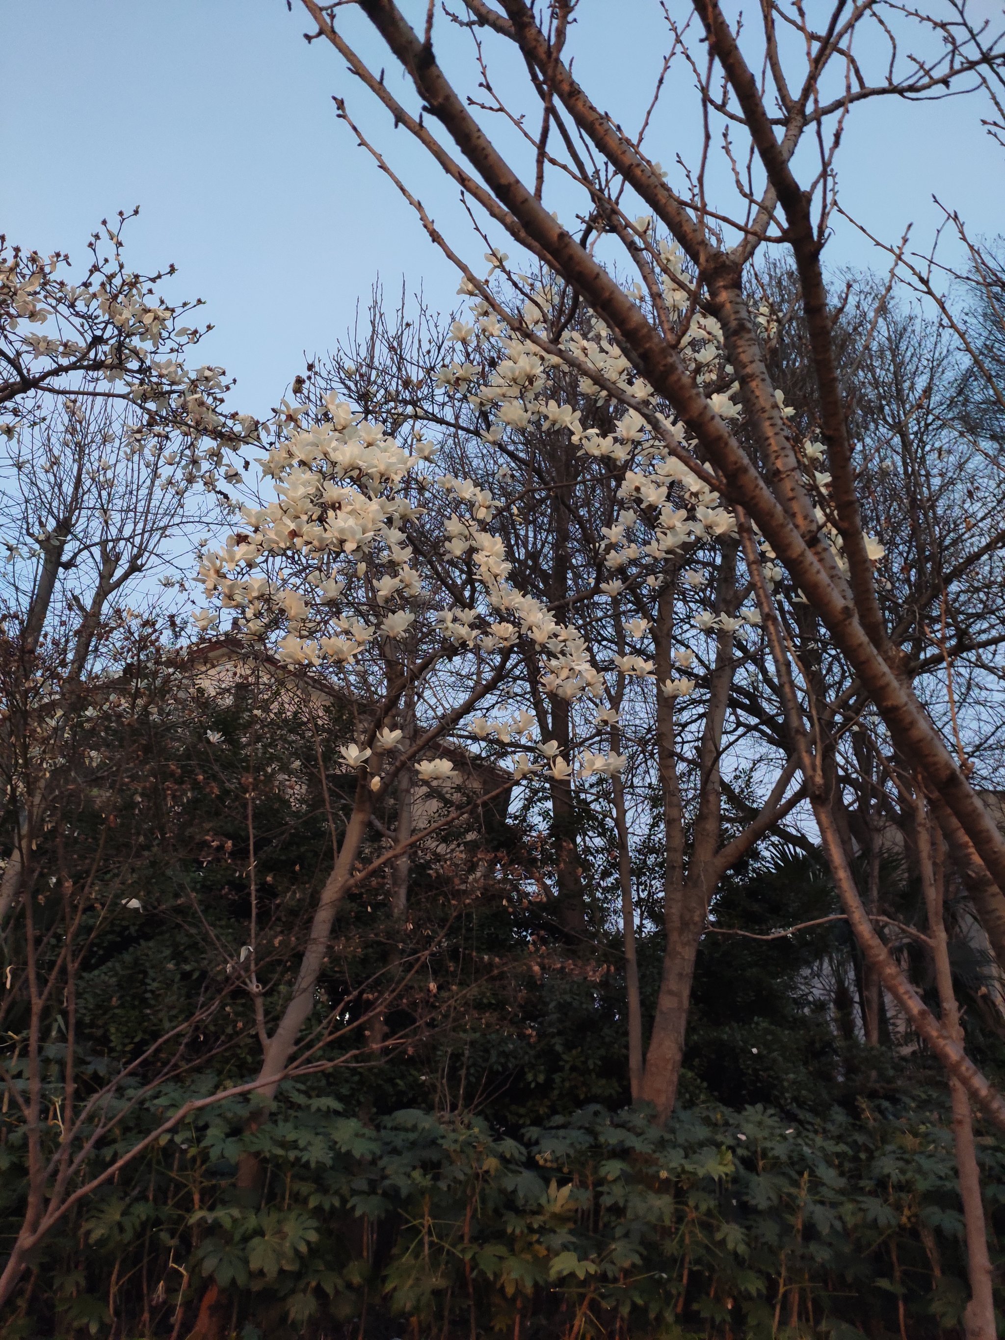
M650 221L636 220L635 225L646 232ZM679 249L669 243L655 245L663 268L665 300L682 323L686 319L681 355L699 383L708 387L706 394L716 413L726 421L740 421L738 383L726 362L721 327L709 314L691 308L690 280ZM697 468L689 466L683 457L694 457L697 444L689 440L679 421L661 411L653 387L635 373L603 323L594 319L586 330L563 331L557 347L567 358L541 348L533 335L540 332L547 336L556 292L547 283L535 285L527 276L517 279L531 289L523 307L528 334L509 331L500 323L490 303L474 295L472 322L456 322L450 331L454 342L466 346L465 358L440 370L440 385L453 387L476 410L488 413L490 423L481 433L488 444L504 444L509 431L520 433L535 425L545 430L564 429L582 456L615 474L620 481L618 498L623 505L608 525L600 527L602 549L596 557L611 574L608 580L600 583L600 591L614 599L630 583L638 587L639 580L658 588L667 572L678 571L686 555L701 545L734 537L736 517L724 505L718 490L710 486L708 476L702 478ZM638 287L636 296L643 296ZM685 318L687 312L690 315ZM504 334L504 330L508 332ZM489 368L481 381L476 363ZM563 403L555 395L559 379L553 371L559 367L567 370L565 381L575 385L578 406ZM575 368L575 378L568 377L570 368ZM780 403L787 417L795 413L784 402ZM604 409L604 431L584 423L584 419L595 418L586 413L587 405ZM509 468L504 464L497 478L508 477ZM768 580L776 583L783 570L772 560L773 555L765 555ZM527 616L527 598L515 612L521 618L524 635L535 638L553 654L557 651L547 618ZM537 614L532 607L529 612ZM702 611L695 619L698 631L724 631L737 636L758 623L756 610L734 615ZM636 632L628 626L627 631L632 638L641 638L646 628ZM594 678L586 649L578 649L575 638L571 638L564 650L564 657L555 657L548 690L576 695L586 689L602 697L603 681ZM655 663L632 650L615 655L610 669L643 679L654 675ZM666 681L662 687L667 697L685 697L695 686L695 679L681 678Z

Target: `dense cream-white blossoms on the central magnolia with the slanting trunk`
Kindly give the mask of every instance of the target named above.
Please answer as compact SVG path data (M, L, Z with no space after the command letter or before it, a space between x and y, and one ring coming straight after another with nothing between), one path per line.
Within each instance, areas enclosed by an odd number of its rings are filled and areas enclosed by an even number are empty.
M276 434L260 462L275 500L241 508L244 525L226 545L202 555L200 579L212 602L196 615L204 631L216 626L220 610L234 610L248 632L271 636L280 661L356 667L371 686L385 667L382 655L370 653L387 642L405 643L402 654L413 659L418 649L427 654L437 645L450 659L484 659L523 638L545 693L603 698L604 679L582 631L507 582L512 564L489 528L500 507L489 489L434 477L430 442L413 434L406 449L335 397L327 398L322 422L302 427L304 413L288 411L291 430ZM429 507L415 504L419 496ZM417 553L409 527L419 520ZM436 608L450 586L445 572L456 578L454 588L474 588L472 606ZM533 724L521 710L507 722L474 718L472 733L509 745ZM344 758L362 766L371 754L358 750ZM448 762L423 760L418 775L445 779L453 766ZM515 776L539 766L521 754ZM584 776L599 770L594 762Z

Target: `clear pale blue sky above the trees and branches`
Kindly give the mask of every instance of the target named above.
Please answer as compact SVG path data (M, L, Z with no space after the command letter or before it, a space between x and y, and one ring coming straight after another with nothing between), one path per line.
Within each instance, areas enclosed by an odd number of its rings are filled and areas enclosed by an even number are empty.
M671 0L677 8L687 7ZM628 123L662 47L657 15L655 0L580 4L580 78ZM307 46L299 4L288 13L284 0L0 0L0 230L82 256L102 216L141 205L133 263L174 261L172 296L206 300L217 327L206 356L237 375L240 407L276 403L303 351L344 332L378 273L387 289L403 277L438 307L457 302L456 275L336 119L331 95L352 99L464 241L457 192L374 113L331 47ZM864 109L842 147L846 206L892 241L907 222L919 243L931 237L933 194L976 233L1002 230L1002 155L981 113L973 99ZM662 147L651 153L669 166L689 130L671 114L657 129ZM832 263L882 261L839 226Z

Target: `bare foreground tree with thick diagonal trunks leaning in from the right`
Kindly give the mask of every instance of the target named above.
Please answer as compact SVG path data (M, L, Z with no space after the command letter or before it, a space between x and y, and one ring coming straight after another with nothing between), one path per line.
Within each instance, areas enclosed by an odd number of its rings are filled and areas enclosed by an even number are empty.
M500 0L498 5L466 0L457 15L438 15L430 5L417 13L417 27L391 0L338 7L304 0L304 7L315 24L310 39L327 40L338 50L395 126L411 134L461 186L486 228L507 233L568 285L570 300L595 314L612 348L673 410L681 437L674 438L670 454L720 494L736 520L793 756L862 953L954 1079L1005 1123L1001 1099L959 1048L951 1018L939 1021L925 1008L867 915L835 817L833 744L820 717L824 686L813 665L796 659L785 641L757 549L760 537L770 549L769 561L780 564L807 602L855 690L882 720L903 765L929 793L990 934L1005 891L1005 839L915 694L903 635L884 616L821 253L833 218L836 153L852 107L870 99L953 92L981 78L997 78L1001 38L972 24L965 4L935 12L838 5L817 24L799 5L772 3L761 7L756 24L741 28L717 0L694 0L686 19L665 15L667 55L654 71L653 100L634 135L600 110L608 90L591 96L575 78L572 56L586 20L578 15L572 23L575 5L565 0L537 9L524 0ZM364 28L360 40L375 35L382 48L373 62L346 36L356 11ZM473 38L468 64L458 55L462 48L444 48L454 60L453 71L440 63L434 44L441 25L450 23L468 28ZM900 55L906 42L910 56ZM385 48L407 75L414 102L397 96L397 82L383 78ZM493 74L496 50L507 64L503 83ZM516 68L527 71L515 106L500 91L511 87L511 56ZM681 165L674 174L678 180L671 181L653 141L663 130L661 94L681 82L667 79L677 67L694 88L693 125L702 131L690 170L678 145L667 146ZM539 130L531 130L527 119L527 106L535 100L541 113ZM344 103L339 106L348 118ZM480 114L494 114L496 125L508 123L512 137L504 141L486 133ZM679 125L679 109L673 123ZM710 162L720 130L726 186L717 192ZM398 181L393 166L374 153ZM454 256L418 200L401 186L433 240ZM635 217L639 205L643 218ZM650 217L681 248L686 279L675 273L659 234L650 232ZM784 248L797 277L796 304L805 323L817 417L811 445L820 445L813 453L819 470L807 469L813 462L807 461L807 449L787 419L758 330L753 267L765 248ZM486 285L454 259L490 303ZM626 264L636 276L634 283L626 284L615 272ZM677 302L689 319L674 319ZM687 356L685 339L699 314L706 328L714 322L712 330L721 331L724 374L728 364L734 395ZM529 320L521 334L539 355L561 359L646 419L645 399L626 395L599 370L591 375L588 360L563 340L561 326L537 331ZM736 425L737 409L744 411L742 431ZM620 541L622 536L615 543ZM973 1160L965 1138L958 1154L966 1183L965 1166L973 1171ZM970 1222L978 1211L980 1202L974 1206L972 1198ZM978 1227L974 1244L982 1240L982 1223ZM969 1328L973 1335L993 1335L986 1248L974 1246L974 1253Z

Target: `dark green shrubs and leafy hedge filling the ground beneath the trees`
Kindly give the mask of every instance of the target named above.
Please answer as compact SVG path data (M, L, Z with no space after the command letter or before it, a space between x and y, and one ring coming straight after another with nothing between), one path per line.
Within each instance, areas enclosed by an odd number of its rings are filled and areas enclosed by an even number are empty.
M331 854L310 733L320 713L284 699L256 716L271 693L268 683L257 697L240 683L233 693L197 683L168 720L127 702L79 728L75 770L39 844L44 870L71 878L83 906L78 938L88 937L75 978L76 1101L165 1030L198 1022L163 1081L147 1059L110 1089L111 1128L74 1185L181 1103L248 1080L260 1064L239 972L252 896L249 780L269 1022ZM146 706L157 706L153 690ZM322 724L338 828L351 779L336 750L350 724L338 705ZM100 756L114 756L115 769ZM588 954L556 929L543 892L548 862L547 843L533 846L517 824L417 852L407 925L394 919L383 876L354 890L315 1014L347 1002L344 1032L319 1053L330 1069L284 1085L256 1131L245 1101L205 1108L84 1197L34 1250L1 1340L184 1340L200 1313L210 1327L201 1335L214 1340L851 1340L896 1336L902 1324L910 1337L939 1327L958 1335L967 1290L945 1089L923 1052L858 1041L847 927L827 922L766 942L705 937L681 1110L661 1132L646 1112L626 1111L610 862L588 872ZM887 886L887 904L915 918L911 880L891 871ZM32 904L56 930L58 890L58 879L40 879ZM125 906L133 898L142 911ZM718 930L769 935L833 911L819 862L761 852L730 872L713 918ZM55 934L47 953L59 943ZM650 1018L663 947L650 910L639 935ZM994 1073L1001 1037L996 1012L981 1013L986 965L963 942L955 954L970 1041ZM421 973L389 993L381 1016L385 1036L405 1041L371 1049L370 1025L358 1021L409 963ZM911 966L929 990L923 961ZM42 1052L47 1155L63 1118L60 1001L47 1006ZM15 980L3 1248L24 1215L16 1095L25 1092L28 1006ZM981 1139L1001 1231L1005 1163ZM236 1186L243 1151L260 1160L255 1191Z

